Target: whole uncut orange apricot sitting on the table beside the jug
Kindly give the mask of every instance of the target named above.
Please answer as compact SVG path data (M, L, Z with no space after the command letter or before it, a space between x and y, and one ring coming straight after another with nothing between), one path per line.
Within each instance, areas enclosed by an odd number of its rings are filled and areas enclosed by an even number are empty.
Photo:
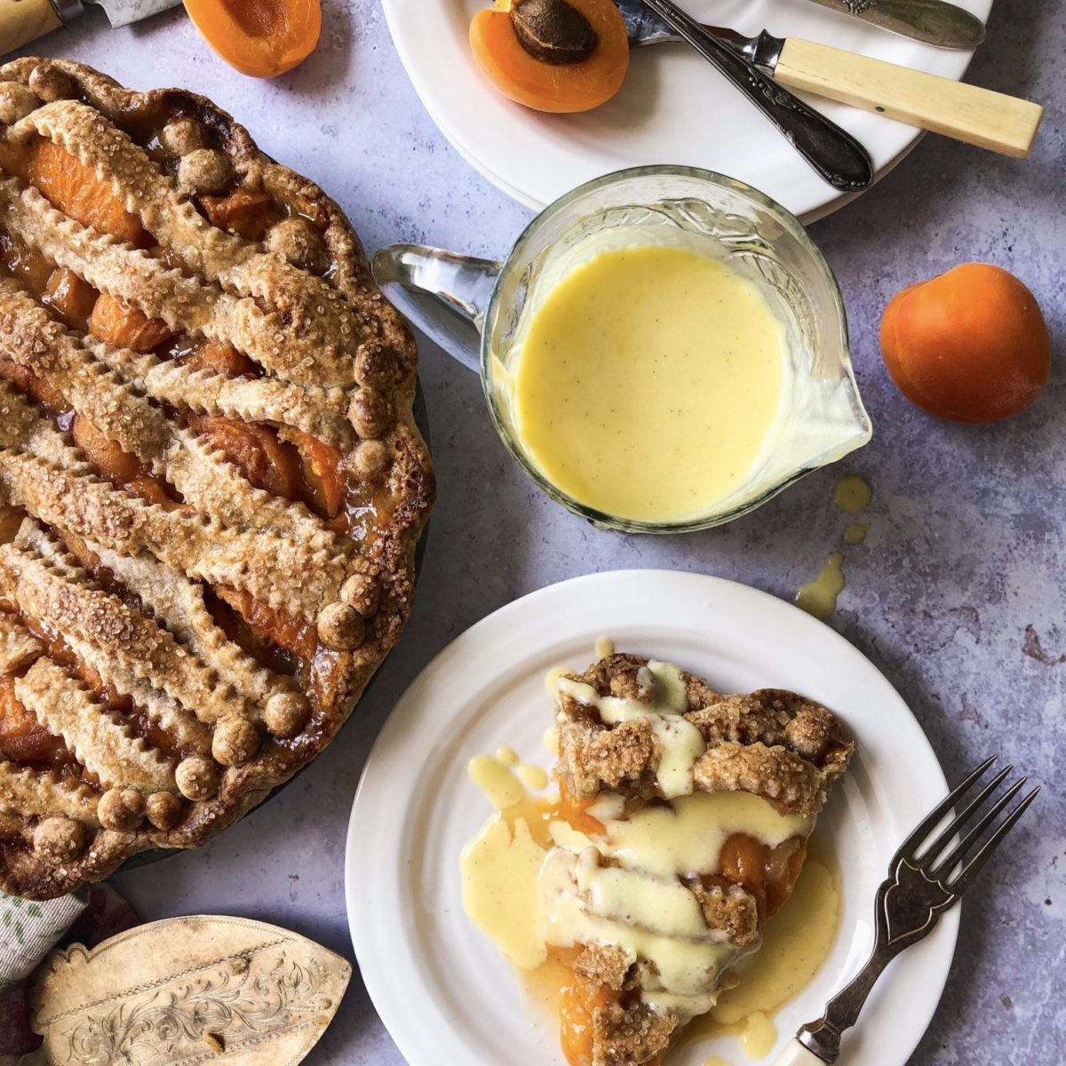
M1036 297L989 263L963 263L894 296L881 350L908 400L955 422L1017 415L1051 374L1051 336Z

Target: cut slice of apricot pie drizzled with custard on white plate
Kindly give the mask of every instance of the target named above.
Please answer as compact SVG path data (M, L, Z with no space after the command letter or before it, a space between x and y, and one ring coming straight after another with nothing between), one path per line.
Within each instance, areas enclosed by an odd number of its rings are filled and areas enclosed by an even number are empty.
M571 1066L656 1063L788 899L853 745L824 707L723 696L637 656L555 682L560 810L542 927Z

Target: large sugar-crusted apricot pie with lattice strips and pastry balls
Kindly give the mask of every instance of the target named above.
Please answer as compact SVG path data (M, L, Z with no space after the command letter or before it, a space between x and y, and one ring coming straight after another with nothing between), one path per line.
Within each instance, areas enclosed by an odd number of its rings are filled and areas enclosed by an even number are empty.
M193 847L336 733L433 496L336 204L203 97L0 68L0 888Z

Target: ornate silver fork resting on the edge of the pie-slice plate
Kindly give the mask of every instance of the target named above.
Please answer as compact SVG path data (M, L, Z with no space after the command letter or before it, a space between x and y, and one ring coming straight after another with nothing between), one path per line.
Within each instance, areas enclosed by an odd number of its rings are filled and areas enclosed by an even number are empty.
M1014 766L1001 770L966 809L923 847L940 820L965 796L996 761L994 755L971 773L922 819L892 856L888 877L877 889L874 902L876 936L873 953L866 966L825 1006L818 1021L802 1025L796 1038L775 1061L774 1066L821 1066L835 1063L840 1055L840 1037L858 1021L875 982L885 967L906 948L927 936L940 916L958 902L973 884L981 868L1003 842L1025 809L1036 798L1039 787L1024 796L996 826L995 831L976 847L985 833L1021 791L1028 778L1011 786L957 843L957 834L969 825L987 805L992 793ZM975 850L976 849L976 850ZM965 863L959 868L959 863Z

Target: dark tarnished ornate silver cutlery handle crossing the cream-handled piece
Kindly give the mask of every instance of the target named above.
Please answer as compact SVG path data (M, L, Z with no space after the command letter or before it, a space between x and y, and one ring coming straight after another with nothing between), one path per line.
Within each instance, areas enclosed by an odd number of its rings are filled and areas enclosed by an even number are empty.
M858 192L873 181L870 154L851 133L711 36L672 0L644 0L644 3L725 75L834 189Z

